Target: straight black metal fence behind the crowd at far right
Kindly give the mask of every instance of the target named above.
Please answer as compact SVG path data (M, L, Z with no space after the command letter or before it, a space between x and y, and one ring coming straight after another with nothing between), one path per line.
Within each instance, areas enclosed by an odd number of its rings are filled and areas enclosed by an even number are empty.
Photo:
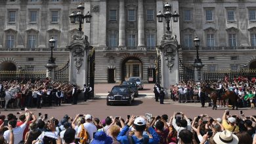
M238 79L238 77L241 79L244 77L250 80L251 78L256 77L256 69L221 69L217 71L203 71L204 81L223 81L224 79L233 81L234 79Z

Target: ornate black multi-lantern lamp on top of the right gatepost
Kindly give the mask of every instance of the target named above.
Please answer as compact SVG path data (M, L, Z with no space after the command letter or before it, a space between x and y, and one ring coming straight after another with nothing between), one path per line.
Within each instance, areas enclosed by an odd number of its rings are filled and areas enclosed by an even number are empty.
M161 10L158 12L158 14L156 15L156 17L158 17L158 22L163 22L163 18L165 18L165 22L167 23L167 31L170 31L170 26L169 23L171 22L171 18L173 18L173 22L178 22L179 19L179 14L177 14L177 12L171 12L171 5L169 5L168 3L166 3L163 6L164 9L164 14L161 13Z

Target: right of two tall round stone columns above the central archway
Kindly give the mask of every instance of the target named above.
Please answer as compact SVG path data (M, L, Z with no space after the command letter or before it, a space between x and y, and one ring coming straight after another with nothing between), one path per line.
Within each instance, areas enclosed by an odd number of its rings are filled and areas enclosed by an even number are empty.
M138 46L145 46L143 0L138 1L138 18Z

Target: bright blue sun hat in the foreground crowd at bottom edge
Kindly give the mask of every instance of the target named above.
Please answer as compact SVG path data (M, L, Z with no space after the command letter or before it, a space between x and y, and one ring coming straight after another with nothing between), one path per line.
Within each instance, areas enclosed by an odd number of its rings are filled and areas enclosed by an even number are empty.
M91 144L111 144L113 142L112 137L106 135L105 132L96 132Z

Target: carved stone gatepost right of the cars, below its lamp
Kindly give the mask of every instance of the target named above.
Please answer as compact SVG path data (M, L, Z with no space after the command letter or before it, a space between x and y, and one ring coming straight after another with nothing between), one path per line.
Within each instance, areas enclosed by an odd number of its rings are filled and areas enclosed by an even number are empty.
M165 97L169 97L170 85L179 83L179 56L178 41L176 35L172 35L171 31L165 31L161 39L160 50L161 59L161 86L165 90Z

